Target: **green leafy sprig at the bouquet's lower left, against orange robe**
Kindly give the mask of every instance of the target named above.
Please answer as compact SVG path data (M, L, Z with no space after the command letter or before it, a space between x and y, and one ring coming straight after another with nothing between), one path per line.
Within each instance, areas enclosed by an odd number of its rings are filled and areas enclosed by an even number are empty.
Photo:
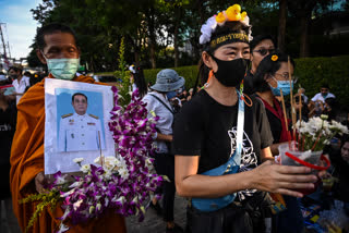
M44 192L40 194L32 194L24 199L20 200L20 204L26 203L38 203L36 205L36 210L31 217L28 225L25 228L25 232L29 232L29 229L34 225L34 222L41 214L45 208L50 207L50 210L53 211L60 200L60 192L58 189L51 189L50 192Z

